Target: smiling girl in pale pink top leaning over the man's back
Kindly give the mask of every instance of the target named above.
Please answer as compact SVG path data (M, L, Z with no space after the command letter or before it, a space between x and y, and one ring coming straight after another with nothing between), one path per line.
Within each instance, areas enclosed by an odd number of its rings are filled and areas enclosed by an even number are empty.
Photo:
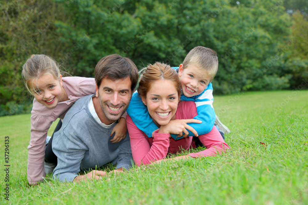
M63 77L59 66L49 56L32 55L22 67L22 77L27 90L34 96L31 111L30 144L28 146L27 179L29 184L37 184L45 176L45 164L55 168L57 157L52 152L52 137L47 146L47 131L57 118L63 119L67 110L76 100L95 93L94 78ZM123 115L113 128L113 143L121 141L127 132ZM61 128L59 120L57 130ZM46 147L46 152L45 152Z

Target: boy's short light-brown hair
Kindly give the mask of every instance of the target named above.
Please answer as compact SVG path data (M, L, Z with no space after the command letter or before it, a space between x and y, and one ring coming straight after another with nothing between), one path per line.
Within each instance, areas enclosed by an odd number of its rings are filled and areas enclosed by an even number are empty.
M215 77L218 69L218 57L217 53L212 49L205 48L203 46L197 46L189 51L183 61L183 69L188 65L193 64L200 69L206 70L209 75L212 76L212 80Z

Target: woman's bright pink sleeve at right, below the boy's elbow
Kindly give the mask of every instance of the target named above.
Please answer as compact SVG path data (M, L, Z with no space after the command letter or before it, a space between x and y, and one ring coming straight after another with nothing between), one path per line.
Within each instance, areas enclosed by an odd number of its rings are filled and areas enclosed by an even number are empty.
M229 149L228 144L222 139L221 134L217 130L215 126L213 126L212 130L204 135L199 135L199 139L206 147L205 150L197 153L190 153L189 156L192 157L207 157L207 156L216 156L217 154L221 154Z

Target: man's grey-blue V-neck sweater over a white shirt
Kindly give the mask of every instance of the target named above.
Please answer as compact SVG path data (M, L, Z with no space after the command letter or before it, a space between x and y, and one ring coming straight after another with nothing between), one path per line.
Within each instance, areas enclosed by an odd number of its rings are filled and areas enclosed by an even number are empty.
M132 152L129 136L118 143L111 143L110 136L115 124L109 128L99 125L88 109L93 95L80 98L66 113L61 129L55 132L52 151L58 157L53 178L71 182L79 171L95 170L107 163L116 168L132 166Z

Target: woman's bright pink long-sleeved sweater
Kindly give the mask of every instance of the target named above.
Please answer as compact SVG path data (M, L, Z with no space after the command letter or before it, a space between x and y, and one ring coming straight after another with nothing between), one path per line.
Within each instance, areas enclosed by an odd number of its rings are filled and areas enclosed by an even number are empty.
M192 119L197 116L197 108L193 101L180 101L176 119ZM136 127L130 116L126 117L126 124L129 133L132 156L136 165L150 164L156 160L162 160L167 156L167 153L176 153L181 149L188 150L192 145L192 136L174 140L169 138L170 134L154 133L154 138L148 138L144 132ZM198 130L196 130L198 132ZM229 149L229 146L222 139L221 134L216 127L205 134L199 136L200 141L207 149L202 152L190 153L192 157L215 156L217 152Z

